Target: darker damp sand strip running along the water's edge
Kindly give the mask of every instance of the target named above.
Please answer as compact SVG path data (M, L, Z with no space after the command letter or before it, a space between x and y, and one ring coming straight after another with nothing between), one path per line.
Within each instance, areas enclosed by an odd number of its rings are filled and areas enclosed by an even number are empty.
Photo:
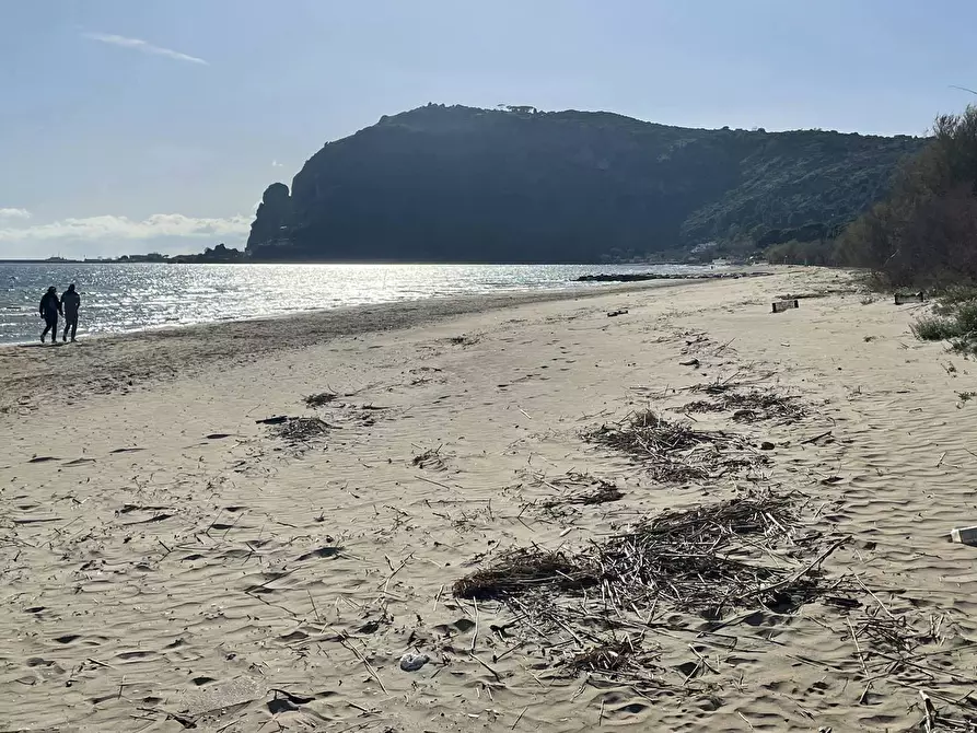
M764 275L766 272L754 274L745 268L740 274L741 277ZM279 350L302 349L340 336L410 328L519 305L627 295L710 281L670 279L584 286L579 290L449 295L82 336L74 344L63 346L36 341L3 344L0 345L0 411L34 405L39 394L60 395L66 384L75 395L86 394L90 387L97 392L128 391L147 381L188 375L216 361L252 361ZM159 358L166 350L175 358Z

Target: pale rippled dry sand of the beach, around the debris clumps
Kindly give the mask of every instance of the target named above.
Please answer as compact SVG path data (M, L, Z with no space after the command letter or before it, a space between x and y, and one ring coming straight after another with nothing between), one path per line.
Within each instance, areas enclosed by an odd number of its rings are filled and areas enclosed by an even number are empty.
M819 296L769 313L786 292ZM945 535L977 524L975 379L911 338L919 310L862 300L780 269L0 350L0 731L922 731L919 690L963 720L977 548ZM768 466L661 485L581 438L714 381L809 407L693 416L774 443ZM330 428L290 443L255 422L278 415ZM568 472L625 496L542 510ZM768 561L803 572L847 537L812 569L860 605L635 609L614 633L653 683L629 684L559 666L598 629L540 643L539 618L452 596L508 548L766 489L807 497ZM918 632L910 661L872 618Z

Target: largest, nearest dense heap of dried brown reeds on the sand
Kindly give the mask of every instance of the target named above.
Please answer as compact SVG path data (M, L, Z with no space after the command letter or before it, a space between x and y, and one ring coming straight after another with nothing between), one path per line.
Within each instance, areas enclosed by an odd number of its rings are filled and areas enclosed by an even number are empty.
M558 613L555 600L568 594L586 594L605 612L618 613L652 605L708 617L744 605L786 609L824 590L817 568L823 557L806 566L770 561L775 550L791 544L795 525L790 496L732 499L663 512L575 554L511 550L453 590L458 597L503 601L516 610L526 610L526 602L537 605L536 618Z

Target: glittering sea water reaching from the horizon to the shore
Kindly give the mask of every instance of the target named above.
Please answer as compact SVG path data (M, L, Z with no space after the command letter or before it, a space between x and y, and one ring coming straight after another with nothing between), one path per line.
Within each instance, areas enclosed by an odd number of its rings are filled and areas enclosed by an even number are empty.
M79 336L254 318L296 311L600 286L594 272L700 271L701 268L594 265L2 265L0 344L37 340L48 286L75 282Z

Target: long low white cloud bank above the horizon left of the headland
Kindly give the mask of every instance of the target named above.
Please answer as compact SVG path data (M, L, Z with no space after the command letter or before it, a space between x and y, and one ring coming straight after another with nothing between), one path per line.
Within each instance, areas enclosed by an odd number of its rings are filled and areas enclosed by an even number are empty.
M251 219L241 214L228 219L210 219L185 217L182 213L154 213L142 221L113 216L62 219L33 226L0 228L0 243L231 237L246 234L251 229Z

